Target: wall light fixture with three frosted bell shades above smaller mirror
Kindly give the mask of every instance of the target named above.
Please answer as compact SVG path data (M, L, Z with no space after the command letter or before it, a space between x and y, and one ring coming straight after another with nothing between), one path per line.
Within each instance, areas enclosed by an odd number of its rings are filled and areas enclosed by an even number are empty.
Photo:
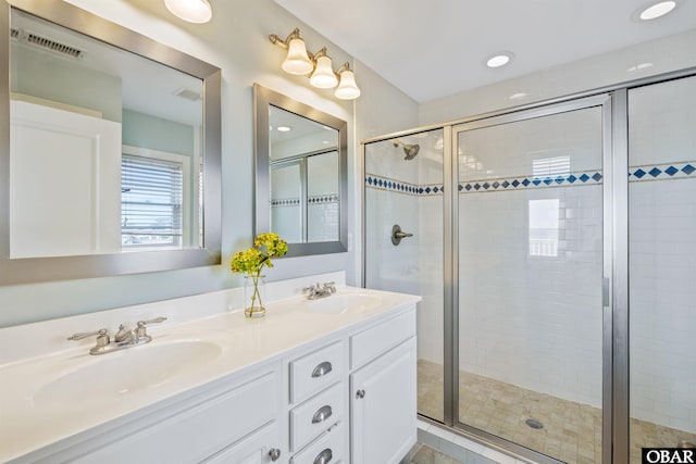
M307 51L299 28L293 30L285 40L275 34L270 35L269 40L271 43L287 49L287 57L281 65L286 73L306 75L309 77L310 85L320 89L335 87L334 95L340 100L355 100L360 97L360 88L356 84L356 75L350 70L350 65L345 63L338 68L338 72L334 72L326 47L322 47L316 53Z

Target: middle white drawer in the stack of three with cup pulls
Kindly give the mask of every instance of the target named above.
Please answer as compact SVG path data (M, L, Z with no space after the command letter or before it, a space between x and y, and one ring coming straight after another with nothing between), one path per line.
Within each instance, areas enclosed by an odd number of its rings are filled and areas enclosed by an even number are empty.
M344 415L344 388L336 384L290 411L290 449L301 450Z

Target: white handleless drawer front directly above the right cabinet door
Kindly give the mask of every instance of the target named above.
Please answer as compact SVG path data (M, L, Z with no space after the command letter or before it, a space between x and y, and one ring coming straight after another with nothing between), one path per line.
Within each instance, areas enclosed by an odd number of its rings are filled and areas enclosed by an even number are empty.
M350 367L358 368L415 335L415 308L350 337Z

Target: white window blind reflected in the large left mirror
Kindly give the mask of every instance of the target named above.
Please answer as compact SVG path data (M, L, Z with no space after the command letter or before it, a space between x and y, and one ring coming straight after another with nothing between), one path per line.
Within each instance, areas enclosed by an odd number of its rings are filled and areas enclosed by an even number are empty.
M184 174L181 163L123 154L123 248L181 247Z

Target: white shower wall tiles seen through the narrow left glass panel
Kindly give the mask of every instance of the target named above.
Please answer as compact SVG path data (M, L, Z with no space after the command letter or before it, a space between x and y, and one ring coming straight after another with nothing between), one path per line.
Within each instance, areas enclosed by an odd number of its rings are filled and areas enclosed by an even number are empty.
M419 154L405 160L393 141L366 148L366 176L376 174L412 186L443 185L443 130L403 137L420 145ZM374 187L374 186L372 186ZM418 293L419 359L443 363L443 195L417 195L387 188L365 189L365 278L368 287ZM398 247L390 240L398 224L413 237Z

